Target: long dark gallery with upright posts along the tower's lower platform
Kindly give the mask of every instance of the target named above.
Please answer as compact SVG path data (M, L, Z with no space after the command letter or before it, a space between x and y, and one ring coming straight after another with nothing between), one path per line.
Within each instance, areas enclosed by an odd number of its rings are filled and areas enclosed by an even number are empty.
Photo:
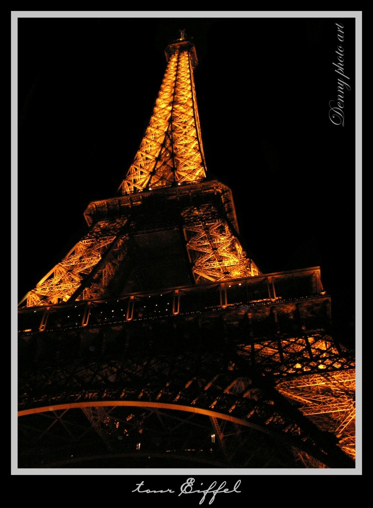
M24 307L18 312L18 331L27 335L61 327L81 328L212 309L274 305L315 296L325 296L318 268L135 293L116 299L66 302L47 308Z

